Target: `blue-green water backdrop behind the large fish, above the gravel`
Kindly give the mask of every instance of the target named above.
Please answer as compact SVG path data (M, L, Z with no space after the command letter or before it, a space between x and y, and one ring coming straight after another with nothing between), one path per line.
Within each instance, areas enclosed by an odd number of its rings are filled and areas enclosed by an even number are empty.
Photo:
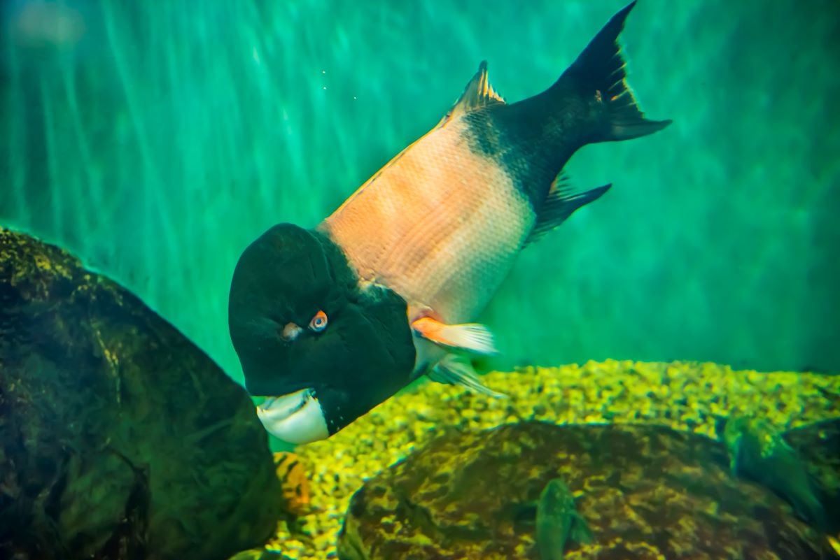
M480 60L531 96L622 5L4 3L0 224L74 251L241 380L244 246L318 223ZM491 366L840 370L838 22L836 0L641 0L629 80L675 123L572 158L576 187L614 188L524 251L481 318Z

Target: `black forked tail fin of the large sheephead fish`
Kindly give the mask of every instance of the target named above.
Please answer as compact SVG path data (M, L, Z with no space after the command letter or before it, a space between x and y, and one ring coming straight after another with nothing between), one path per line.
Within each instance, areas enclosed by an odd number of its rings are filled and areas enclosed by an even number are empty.
M618 34L624 29L627 14L636 5L627 4L590 41L575 63L559 77L552 88L575 87L586 96L601 98L606 105L606 129L596 133L594 142L628 140L653 134L670 121L648 121L638 108L630 86L618 45Z

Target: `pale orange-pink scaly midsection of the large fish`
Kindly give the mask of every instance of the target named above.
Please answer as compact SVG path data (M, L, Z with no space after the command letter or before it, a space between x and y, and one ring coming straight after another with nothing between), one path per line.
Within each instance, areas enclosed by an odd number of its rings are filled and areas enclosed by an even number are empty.
M470 133L463 118L433 129L322 225L360 278L450 323L484 308L535 220L496 160L470 148Z

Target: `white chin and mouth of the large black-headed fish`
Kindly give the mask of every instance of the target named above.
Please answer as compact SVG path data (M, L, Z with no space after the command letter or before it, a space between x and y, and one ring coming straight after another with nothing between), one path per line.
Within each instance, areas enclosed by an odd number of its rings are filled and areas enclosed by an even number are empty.
M329 437L321 403L312 387L268 397L257 407L265 431L288 443L311 443Z

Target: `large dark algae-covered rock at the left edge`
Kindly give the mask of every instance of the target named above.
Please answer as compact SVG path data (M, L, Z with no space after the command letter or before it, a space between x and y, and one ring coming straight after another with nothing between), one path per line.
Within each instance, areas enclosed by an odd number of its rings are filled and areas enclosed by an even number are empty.
M0 557L226 558L280 507L244 390L116 283L0 229Z

